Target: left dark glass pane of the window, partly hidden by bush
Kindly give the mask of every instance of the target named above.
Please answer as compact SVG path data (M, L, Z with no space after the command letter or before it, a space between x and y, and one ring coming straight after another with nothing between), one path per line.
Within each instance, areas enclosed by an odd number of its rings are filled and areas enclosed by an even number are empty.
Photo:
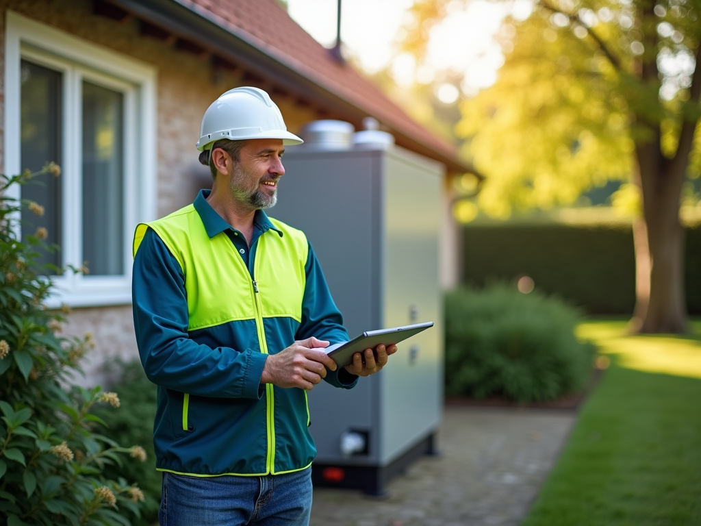
M22 60L20 156L32 172L50 161L61 163L61 74ZM37 227L48 230L48 243L61 244L61 179L45 173L22 187L22 198L44 208L43 217L22 210L22 236ZM61 264L60 252L45 253L39 263ZM53 271L48 274L55 274Z

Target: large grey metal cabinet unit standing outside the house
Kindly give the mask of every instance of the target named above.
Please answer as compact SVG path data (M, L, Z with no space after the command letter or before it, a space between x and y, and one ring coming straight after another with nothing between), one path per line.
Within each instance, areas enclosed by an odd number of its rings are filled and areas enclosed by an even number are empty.
M368 145L288 147L284 164L280 199L269 213L306 233L350 336L435 323L401 343L388 366L355 389L322 382L309 393L315 483L381 494L410 461L433 452L442 415L444 166L399 147ZM341 437L349 432L365 444L343 454Z

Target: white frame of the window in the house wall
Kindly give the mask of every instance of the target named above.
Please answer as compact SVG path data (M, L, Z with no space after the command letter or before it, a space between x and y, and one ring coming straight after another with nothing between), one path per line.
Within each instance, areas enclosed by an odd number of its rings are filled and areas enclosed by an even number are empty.
M62 265L81 267L83 80L123 93L123 269L120 276L67 271L55 276L49 307L131 303L132 236L139 222L156 218L156 69L109 48L8 11L5 39L5 163L20 173L20 62L62 73ZM8 189L20 196L15 185Z

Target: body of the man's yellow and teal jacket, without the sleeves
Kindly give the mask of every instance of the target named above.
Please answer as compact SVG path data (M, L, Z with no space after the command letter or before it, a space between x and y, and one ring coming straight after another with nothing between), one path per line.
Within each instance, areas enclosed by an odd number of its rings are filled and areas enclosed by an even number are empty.
M150 227L182 269L194 341L261 353L294 342L308 243L301 231L271 222L279 232L259 237L253 278L224 232L207 235L193 205L138 225L134 255ZM302 389L265 384L261 398L251 399L191 396L159 386L158 418L170 422L154 429L161 471L200 477L287 473L310 466L316 453Z

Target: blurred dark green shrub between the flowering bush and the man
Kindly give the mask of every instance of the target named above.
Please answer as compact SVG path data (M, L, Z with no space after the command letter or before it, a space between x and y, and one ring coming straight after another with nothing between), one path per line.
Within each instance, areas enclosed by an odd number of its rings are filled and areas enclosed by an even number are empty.
M156 454L154 453L154 418L156 417L156 386L149 382L144 367L138 360L123 363L116 361L107 364L111 371L117 372L117 381L109 388L119 393L120 411L104 408L97 412L107 422L109 436L118 443L142 444L147 453L144 462L125 464L123 468L107 466L106 476L121 476L128 480L138 480L146 502L135 526L147 526L158 522L158 505L161 501L161 472L156 471Z

